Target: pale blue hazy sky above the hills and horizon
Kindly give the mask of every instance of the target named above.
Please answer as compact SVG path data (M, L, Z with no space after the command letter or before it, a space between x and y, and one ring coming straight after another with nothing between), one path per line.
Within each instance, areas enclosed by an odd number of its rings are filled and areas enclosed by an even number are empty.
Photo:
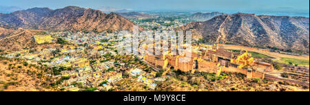
M76 5L94 9L112 7L130 10L207 12L306 12L309 15L309 0L0 0L0 5L25 9L56 9Z

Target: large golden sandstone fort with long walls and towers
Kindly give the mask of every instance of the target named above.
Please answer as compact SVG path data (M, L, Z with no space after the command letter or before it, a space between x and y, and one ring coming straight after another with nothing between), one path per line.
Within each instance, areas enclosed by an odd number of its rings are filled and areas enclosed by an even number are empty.
M273 70L273 66L266 62L257 62L247 51L236 53L220 48L219 45L194 46L192 57L189 62L179 62L184 55L141 55L143 60L152 67L169 70L170 68L180 71L194 71L216 73L222 71L231 73L242 73L247 78L265 78L265 71Z

